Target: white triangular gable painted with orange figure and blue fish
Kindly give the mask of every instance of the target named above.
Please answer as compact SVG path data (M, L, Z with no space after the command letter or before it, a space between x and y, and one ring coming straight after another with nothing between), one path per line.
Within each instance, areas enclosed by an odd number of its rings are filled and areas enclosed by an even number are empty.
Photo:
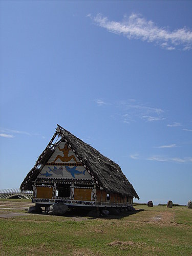
M92 179L66 142L61 142L37 178Z

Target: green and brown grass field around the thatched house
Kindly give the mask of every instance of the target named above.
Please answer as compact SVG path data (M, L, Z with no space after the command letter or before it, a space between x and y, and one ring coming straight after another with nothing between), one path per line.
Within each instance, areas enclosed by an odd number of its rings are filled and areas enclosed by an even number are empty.
M22 202L22 203L20 203ZM192 209L136 205L113 218L25 214L30 201L0 200L0 255L192 255ZM21 206L23 205L23 206Z

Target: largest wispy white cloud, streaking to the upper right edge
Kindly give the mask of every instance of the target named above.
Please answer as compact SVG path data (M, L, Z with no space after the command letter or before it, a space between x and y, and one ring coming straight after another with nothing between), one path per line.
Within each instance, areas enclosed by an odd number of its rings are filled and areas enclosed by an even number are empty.
M111 33L124 35L128 39L140 39L142 41L154 42L166 50L190 50L192 46L192 31L180 28L173 31L155 25L152 20L147 20L141 15L132 14L124 17L121 22L109 20L100 13L90 17L97 26L105 28Z

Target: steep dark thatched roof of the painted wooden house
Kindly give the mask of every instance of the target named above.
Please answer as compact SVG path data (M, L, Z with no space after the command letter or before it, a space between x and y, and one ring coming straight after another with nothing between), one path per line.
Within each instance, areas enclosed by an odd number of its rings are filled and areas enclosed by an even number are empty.
M108 157L103 156L95 150L95 148L78 139L73 134L63 129L60 125L57 124L57 126L53 138L20 185L20 189L32 189L32 181L35 181L41 169L54 153L58 143L67 141L81 160L82 164L90 170L90 174L98 186L109 193L117 193L122 196L133 196L139 199L133 185L126 179L118 164L114 163ZM52 144L57 135L60 137L59 142Z

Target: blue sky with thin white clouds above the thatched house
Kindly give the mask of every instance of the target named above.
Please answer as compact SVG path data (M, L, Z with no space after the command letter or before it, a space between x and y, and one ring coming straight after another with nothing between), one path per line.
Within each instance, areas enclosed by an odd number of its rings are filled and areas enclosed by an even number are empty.
M56 124L120 165L140 202L192 199L190 1L1 1L0 189Z

